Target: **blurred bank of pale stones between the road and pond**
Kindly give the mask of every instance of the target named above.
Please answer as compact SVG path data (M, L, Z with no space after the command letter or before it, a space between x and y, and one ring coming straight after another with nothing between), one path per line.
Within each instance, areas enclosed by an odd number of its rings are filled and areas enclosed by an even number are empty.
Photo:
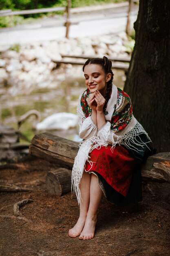
M134 41L121 33L20 45L19 53L11 49L0 51L0 88L8 86L12 95L29 94L38 88L55 88L64 80L65 72L72 69L70 64L57 67L53 62L60 61L62 55L126 57L133 45Z

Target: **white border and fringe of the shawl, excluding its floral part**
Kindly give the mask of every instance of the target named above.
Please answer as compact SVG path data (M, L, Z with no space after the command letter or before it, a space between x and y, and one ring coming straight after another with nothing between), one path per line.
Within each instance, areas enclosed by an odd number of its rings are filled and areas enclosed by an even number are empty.
M82 110L80 99L81 98L79 98L79 105L77 106L77 115L79 116L79 122L83 122L86 119L86 117ZM105 115L106 121L111 120L111 117L113 115L113 110L117 111L120 108L120 106L122 106L122 101L123 99L119 99L119 101L117 101L117 87L113 85L112 94L110 99L108 100L108 104L106 106L106 111L105 111L105 113L107 113ZM114 108L113 106L116 106L116 107ZM127 124L126 128L124 128L119 132L115 132L111 130L111 134L112 134L111 149L114 150L116 144L125 145L127 148L133 149L136 151L138 151L138 149L134 146L134 144L137 146L141 146L142 148L146 147L147 145L144 141L140 141L139 143L137 143L135 140L137 136L141 133L146 134L146 136L148 137L148 142L151 141L148 134L144 130L144 128L141 126L141 124L139 124L139 122L132 115L130 123ZM93 149L95 148L99 149L102 146L106 147L108 146L108 143L106 141L102 141L99 135L83 140L79 144L79 151L77 153L77 156L75 157L75 162L72 170L72 191L74 191L77 196L78 204L80 204L81 202L79 183L82 178L86 161L88 161L91 164L91 167L93 165L93 162L91 162L90 160L89 153L91 153Z

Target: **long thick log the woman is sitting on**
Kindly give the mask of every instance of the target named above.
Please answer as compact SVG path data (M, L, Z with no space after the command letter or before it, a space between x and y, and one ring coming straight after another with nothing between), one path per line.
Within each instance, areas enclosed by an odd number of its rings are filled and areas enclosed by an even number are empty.
M78 142L45 132L35 135L29 152L35 157L59 163L62 167L72 168L78 152ZM146 164L142 167L141 175L146 180L170 183L170 153L157 153L148 157Z

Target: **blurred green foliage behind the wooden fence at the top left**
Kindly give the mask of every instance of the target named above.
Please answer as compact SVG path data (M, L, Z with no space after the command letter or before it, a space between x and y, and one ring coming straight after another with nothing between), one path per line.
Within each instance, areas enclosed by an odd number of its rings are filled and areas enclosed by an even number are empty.
M90 6L96 4L106 4L113 2L125 2L126 0L72 0L73 7ZM29 10L47 7L66 7L67 0L0 0L0 10L11 9L11 10ZM47 14L47 13L46 13ZM57 14L62 14L58 12ZM24 18L38 18L43 16L44 13L35 13L22 16L6 16L0 17L0 27L13 27L24 22Z

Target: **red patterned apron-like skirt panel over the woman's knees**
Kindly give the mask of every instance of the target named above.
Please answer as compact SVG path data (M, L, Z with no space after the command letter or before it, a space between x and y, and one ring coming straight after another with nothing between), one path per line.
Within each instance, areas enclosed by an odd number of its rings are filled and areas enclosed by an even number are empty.
M115 191L126 197L136 161L124 147L117 145L113 151L111 147L93 149L89 154L93 165L86 162L85 170L98 173Z

